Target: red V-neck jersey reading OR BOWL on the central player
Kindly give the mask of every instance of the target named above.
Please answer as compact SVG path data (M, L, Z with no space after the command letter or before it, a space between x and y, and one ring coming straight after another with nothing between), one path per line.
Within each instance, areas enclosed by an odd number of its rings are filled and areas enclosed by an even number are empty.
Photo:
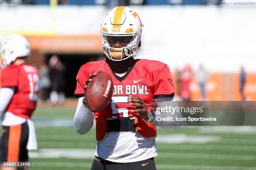
M127 71L123 77L116 75L104 60L88 62L77 73L77 96L84 96L84 85L89 75L102 70L108 72L114 84L112 101L100 112L95 112L97 117L133 117L135 109L128 103L128 96L138 96L146 104L146 109L151 110L151 105L156 97L173 97L174 83L169 67L159 61L141 59Z

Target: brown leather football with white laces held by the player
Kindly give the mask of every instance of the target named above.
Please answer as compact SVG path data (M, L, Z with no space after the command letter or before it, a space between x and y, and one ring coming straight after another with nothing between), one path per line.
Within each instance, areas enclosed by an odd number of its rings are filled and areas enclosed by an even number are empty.
M108 72L97 73L92 81L87 84L85 100L92 112L104 109L113 96L113 81Z

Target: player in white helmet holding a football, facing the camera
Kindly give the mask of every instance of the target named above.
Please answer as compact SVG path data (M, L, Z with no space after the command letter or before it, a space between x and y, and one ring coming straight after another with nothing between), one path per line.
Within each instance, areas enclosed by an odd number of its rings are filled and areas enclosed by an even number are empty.
M87 133L93 118L96 120L97 148L91 170L156 170L159 124L152 105L156 102L161 107L174 100L175 91L166 64L134 59L141 46L142 27L141 19L130 7L115 7L105 16L101 28L106 59L82 65L77 74L77 132ZM84 100L84 90L100 71L112 77L114 94L107 107L93 114Z

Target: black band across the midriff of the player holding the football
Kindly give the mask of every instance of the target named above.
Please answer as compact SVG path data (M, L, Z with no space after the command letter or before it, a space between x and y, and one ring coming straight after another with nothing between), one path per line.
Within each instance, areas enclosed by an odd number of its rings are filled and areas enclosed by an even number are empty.
M129 117L108 120L107 132L128 132L136 131L134 119Z

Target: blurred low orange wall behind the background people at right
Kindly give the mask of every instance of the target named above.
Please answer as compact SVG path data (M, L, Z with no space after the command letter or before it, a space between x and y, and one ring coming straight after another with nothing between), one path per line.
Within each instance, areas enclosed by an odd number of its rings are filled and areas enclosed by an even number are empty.
M172 75L175 89L177 87L177 77ZM195 77L192 77L189 83L190 99L202 100L200 85ZM210 101L240 101L240 75L238 73L210 73L205 85L206 100ZM244 94L246 100L256 101L256 73L246 74L246 84L244 85ZM176 94L175 96L177 96Z

